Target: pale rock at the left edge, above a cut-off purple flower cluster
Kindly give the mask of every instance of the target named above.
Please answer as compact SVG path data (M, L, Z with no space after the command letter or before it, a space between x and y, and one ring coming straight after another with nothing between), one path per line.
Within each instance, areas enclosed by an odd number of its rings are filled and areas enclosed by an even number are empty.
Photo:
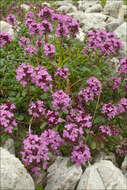
M12 26L5 21L0 21L0 32L7 32L12 36L12 39L15 38L15 33Z

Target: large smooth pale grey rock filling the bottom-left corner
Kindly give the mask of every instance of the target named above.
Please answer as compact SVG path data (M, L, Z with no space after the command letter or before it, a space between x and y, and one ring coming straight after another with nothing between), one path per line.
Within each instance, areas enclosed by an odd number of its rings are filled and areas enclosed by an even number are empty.
M1 190L35 189L32 177L27 173L18 158L3 148L0 148L0 157Z

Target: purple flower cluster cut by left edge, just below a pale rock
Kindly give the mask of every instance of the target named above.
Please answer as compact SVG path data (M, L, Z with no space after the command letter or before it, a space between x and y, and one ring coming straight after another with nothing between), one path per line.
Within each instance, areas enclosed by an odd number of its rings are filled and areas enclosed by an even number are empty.
M12 41L12 36L6 32L0 33L0 47L10 44Z

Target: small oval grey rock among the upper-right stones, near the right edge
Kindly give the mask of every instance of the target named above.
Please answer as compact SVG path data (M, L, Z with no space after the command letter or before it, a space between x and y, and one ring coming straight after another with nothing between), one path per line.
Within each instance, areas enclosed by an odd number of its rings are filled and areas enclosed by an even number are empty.
M114 30L116 30L116 28L118 28L121 25L121 20L120 19L114 19L114 21L108 23L106 25L106 30L108 32L113 32Z

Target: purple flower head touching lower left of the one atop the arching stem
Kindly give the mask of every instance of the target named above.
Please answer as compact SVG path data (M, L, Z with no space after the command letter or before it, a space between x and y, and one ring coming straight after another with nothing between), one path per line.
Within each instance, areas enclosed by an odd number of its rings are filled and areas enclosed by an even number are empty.
M78 94L78 100L80 102L88 102L94 100L94 93L92 88L86 87L84 90L81 90Z

